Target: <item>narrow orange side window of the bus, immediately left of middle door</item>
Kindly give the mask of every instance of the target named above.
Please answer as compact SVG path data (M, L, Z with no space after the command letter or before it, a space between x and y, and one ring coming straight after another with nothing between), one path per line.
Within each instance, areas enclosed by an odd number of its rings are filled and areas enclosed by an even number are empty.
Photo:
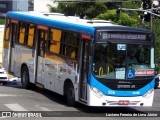
M34 40L35 40L34 34L35 34L35 25L29 24L28 38L27 38L27 46L29 46L29 47L34 46Z

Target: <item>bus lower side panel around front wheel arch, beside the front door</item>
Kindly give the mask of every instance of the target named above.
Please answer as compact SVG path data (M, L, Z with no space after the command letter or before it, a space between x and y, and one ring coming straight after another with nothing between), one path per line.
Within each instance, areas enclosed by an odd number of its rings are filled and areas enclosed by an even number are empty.
M57 78L55 81L55 91L64 94L64 82L65 80L71 80L74 86L75 95L78 95L78 80L77 80L77 63L72 60L66 60L62 58L57 59ZM77 97L77 96L75 96Z

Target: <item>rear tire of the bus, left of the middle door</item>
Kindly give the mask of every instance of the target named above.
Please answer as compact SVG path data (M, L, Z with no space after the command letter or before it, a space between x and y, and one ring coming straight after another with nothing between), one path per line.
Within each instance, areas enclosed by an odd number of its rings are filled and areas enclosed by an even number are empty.
M21 83L22 88L29 89L30 82L29 82L29 72L27 66L24 66L21 71Z

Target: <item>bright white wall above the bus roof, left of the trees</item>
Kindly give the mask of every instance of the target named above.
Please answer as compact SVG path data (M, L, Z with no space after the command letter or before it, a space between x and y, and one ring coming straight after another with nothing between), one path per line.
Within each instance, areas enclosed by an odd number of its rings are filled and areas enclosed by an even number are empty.
M53 6L53 1L54 0L34 0L34 11L49 12L47 4Z

